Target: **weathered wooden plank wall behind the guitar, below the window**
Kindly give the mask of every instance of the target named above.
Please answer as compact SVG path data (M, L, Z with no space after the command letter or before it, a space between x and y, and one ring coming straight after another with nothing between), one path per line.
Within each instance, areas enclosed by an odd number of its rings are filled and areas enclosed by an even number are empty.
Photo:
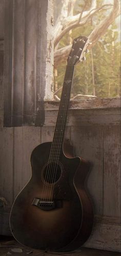
M107 101L102 101L106 105ZM1 128L0 194L8 202L0 214L1 234L10 234L10 208L31 175L29 159L33 148L53 138L58 104L47 105L44 127ZM93 201L95 221L85 246L120 251L119 107L77 109L75 105L76 109L69 111L65 138L71 141L76 156L93 163L87 189Z

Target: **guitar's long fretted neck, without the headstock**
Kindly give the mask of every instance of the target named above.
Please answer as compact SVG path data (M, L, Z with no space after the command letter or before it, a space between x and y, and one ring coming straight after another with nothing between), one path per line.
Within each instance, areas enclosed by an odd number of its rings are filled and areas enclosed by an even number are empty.
M64 133L67 121L67 112L69 108L71 85L74 74L74 65L66 66L66 73L63 83L62 96L60 99L57 122L54 131L53 142L50 151L50 159L58 160L63 148Z

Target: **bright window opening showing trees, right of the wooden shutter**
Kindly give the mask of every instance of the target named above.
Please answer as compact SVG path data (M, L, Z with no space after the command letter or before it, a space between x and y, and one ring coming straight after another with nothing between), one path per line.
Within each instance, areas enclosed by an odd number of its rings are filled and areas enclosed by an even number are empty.
M94 3L95 2L95 3ZM55 61L54 91L60 97L66 61L67 47L80 35L91 36L94 46L86 55L86 61L75 67L72 99L116 98L120 96L120 17L113 22L106 17L116 9L112 1L57 0L55 13ZM92 4L91 4L92 3ZM117 18L116 18L117 16ZM100 23L104 21L104 31ZM110 26L107 25L109 22ZM58 27L58 31L57 31ZM98 29L98 33L97 33ZM93 35L94 34L94 35ZM97 35L96 35L97 34ZM59 40L60 39L60 40ZM95 43L96 42L96 43ZM64 61L63 61L64 59Z

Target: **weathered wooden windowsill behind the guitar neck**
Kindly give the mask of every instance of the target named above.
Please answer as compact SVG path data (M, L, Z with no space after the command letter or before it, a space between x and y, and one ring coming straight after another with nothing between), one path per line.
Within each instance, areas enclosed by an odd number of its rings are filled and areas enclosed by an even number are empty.
M58 114L58 101L45 101L44 126L55 126ZM70 102L67 126L119 125L120 98L93 98Z

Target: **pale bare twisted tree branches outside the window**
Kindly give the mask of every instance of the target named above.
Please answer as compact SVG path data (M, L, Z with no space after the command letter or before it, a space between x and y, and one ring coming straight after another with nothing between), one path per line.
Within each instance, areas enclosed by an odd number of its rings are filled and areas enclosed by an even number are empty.
M58 15L58 18L54 25L53 35L54 35L54 47L55 47L55 52L54 52L55 66L58 65L60 62L63 62L64 60L66 60L70 52L71 45L60 48L58 50L56 49L56 46L59 43L60 39L62 39L67 32L69 32L73 28L84 26L85 24L88 23L89 20L92 19L94 15L99 13L101 10L107 11L107 9L111 8L112 11L108 15L104 16L105 18L102 21L100 21L99 24L96 24L94 29L90 32L90 35L88 35L88 37L92 42L92 45L90 46L91 48L98 41L98 39L106 33L107 28L115 21L116 17L120 13L118 0L114 0L113 5L105 4L102 6L100 5L100 1L99 1L99 5L97 5L97 1L92 0L89 10L85 10L88 8L88 7L86 8L86 6L88 6L88 1L86 1L80 13L76 15L70 15L75 2L76 0L63 1L62 9L60 10L60 14Z

